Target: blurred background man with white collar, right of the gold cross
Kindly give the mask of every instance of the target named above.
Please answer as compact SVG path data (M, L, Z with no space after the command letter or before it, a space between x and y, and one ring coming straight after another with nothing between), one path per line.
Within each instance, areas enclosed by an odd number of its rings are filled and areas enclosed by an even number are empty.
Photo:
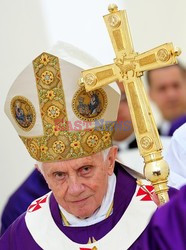
M149 96L157 105L162 122L161 135L172 136L186 122L186 72L177 65L147 72Z

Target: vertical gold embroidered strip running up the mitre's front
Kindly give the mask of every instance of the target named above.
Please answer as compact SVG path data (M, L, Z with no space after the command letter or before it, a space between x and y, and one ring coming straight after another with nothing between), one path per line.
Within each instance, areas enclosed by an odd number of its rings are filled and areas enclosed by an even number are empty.
M51 135L56 118L68 121L59 59L43 53L33 61L33 67L43 128L45 135ZM65 129L67 130L67 127Z

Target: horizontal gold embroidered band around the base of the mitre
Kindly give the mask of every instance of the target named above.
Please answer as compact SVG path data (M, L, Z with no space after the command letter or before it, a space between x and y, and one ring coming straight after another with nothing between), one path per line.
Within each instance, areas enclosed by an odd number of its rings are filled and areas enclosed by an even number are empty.
M59 131L59 135L26 138L20 136L30 155L42 162L68 160L89 156L112 146L113 131ZM87 144L90 136L98 137L97 145ZM107 140L105 140L105 137ZM76 139L74 139L76 138ZM64 144L62 144L63 142Z

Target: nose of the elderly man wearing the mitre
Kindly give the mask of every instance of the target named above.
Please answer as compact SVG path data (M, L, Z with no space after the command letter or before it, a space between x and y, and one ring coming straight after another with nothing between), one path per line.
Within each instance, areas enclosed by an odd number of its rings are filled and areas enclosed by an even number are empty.
M72 196L78 196L84 192L85 186L78 177L70 176L68 180L68 193Z

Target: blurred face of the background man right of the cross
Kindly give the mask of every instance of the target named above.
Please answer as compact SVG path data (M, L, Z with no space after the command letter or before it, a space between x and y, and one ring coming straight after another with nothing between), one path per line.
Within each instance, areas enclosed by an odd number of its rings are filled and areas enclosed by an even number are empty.
M154 70L150 80L150 97L166 120L174 120L186 113L186 82L179 67Z

